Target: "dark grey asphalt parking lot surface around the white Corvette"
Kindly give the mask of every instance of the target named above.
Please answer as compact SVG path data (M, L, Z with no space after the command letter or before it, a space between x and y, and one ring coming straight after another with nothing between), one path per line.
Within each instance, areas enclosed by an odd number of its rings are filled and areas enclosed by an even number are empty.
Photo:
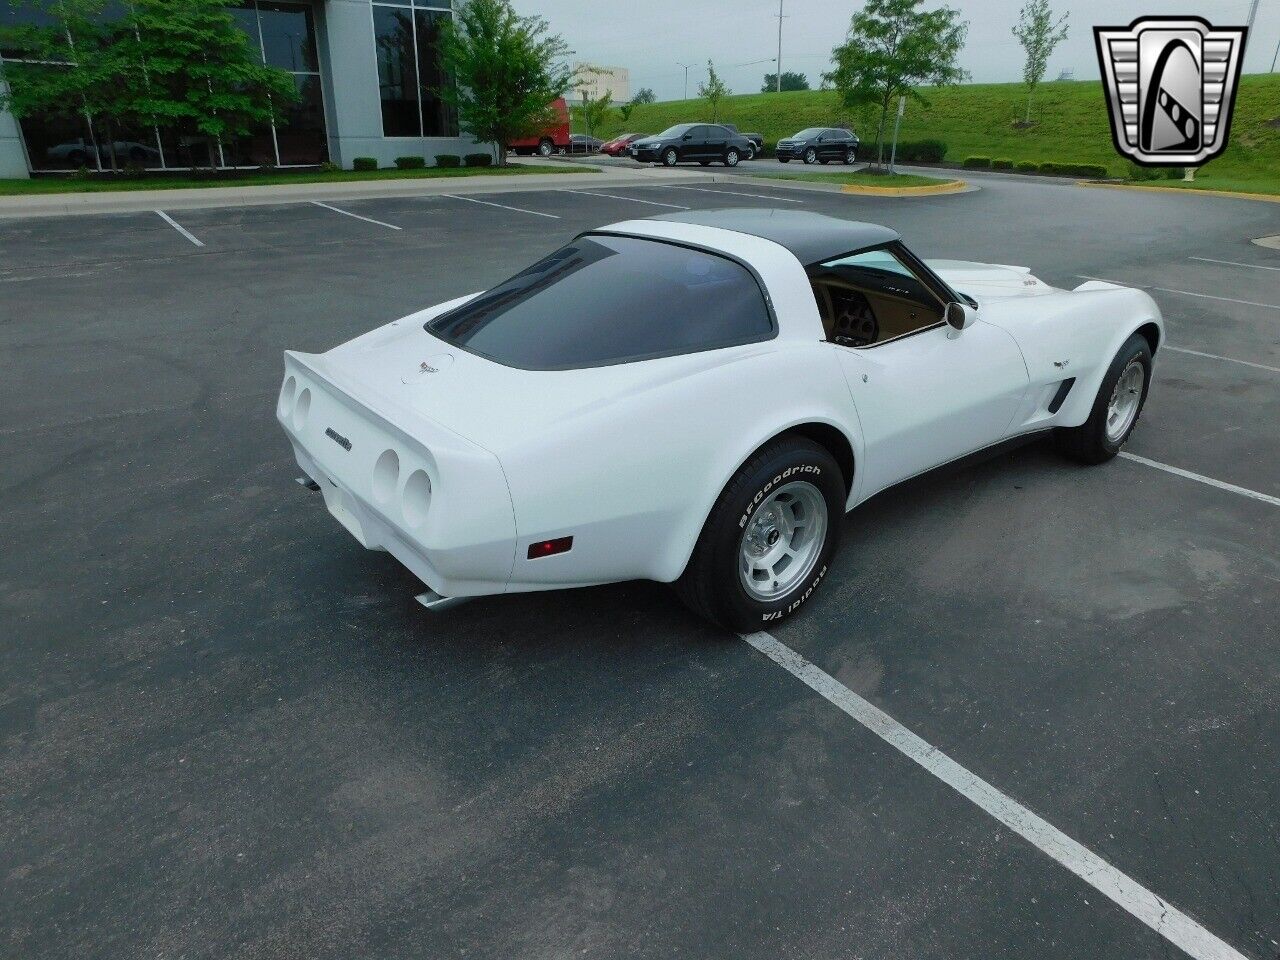
M292 483L282 349L763 205L1161 303L1142 460L881 494L772 636L1280 956L1280 205L694 183L0 220L0 955L1187 955L666 588L430 614Z

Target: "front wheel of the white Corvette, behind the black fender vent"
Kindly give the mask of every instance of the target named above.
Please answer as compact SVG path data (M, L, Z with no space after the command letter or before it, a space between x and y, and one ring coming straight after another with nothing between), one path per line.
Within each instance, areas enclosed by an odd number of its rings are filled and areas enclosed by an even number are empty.
M1089 419L1080 426L1059 428L1057 448L1080 463L1106 463L1115 457L1138 425L1151 385L1151 344L1134 334L1107 369Z

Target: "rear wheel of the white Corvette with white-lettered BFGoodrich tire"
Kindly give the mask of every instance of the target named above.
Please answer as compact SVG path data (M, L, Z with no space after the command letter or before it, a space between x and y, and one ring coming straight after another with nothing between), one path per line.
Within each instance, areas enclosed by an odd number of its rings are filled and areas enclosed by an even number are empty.
M767 630L826 577L844 516L845 480L832 456L812 440L781 438L728 481L676 591L726 630Z

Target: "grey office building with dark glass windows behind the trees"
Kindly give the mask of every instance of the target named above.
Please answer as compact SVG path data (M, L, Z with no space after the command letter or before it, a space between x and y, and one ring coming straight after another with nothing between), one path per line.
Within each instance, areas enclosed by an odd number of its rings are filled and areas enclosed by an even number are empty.
M127 0L115 4L119 8ZM0 177L29 172L193 166L312 166L357 156L390 165L397 156L466 154L457 118L440 99L449 82L440 65L440 24L451 0L243 0L229 6L253 51L293 76L298 100L248 137L214 141L192 131L115 129L109 140L90 119L0 111ZM47 23L29 8L4 4L0 22ZM0 49L4 63L22 51Z

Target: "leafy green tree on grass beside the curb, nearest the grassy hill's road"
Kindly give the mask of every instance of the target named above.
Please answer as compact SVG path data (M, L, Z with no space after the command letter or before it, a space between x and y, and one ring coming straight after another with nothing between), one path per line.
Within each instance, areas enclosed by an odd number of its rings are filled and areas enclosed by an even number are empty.
M922 10L923 3L867 0L854 14L845 42L832 51L835 69L823 76L840 92L845 108L879 108L878 164L884 163L884 123L896 97L928 104L919 86L950 86L969 76L956 64L969 24L957 10Z

